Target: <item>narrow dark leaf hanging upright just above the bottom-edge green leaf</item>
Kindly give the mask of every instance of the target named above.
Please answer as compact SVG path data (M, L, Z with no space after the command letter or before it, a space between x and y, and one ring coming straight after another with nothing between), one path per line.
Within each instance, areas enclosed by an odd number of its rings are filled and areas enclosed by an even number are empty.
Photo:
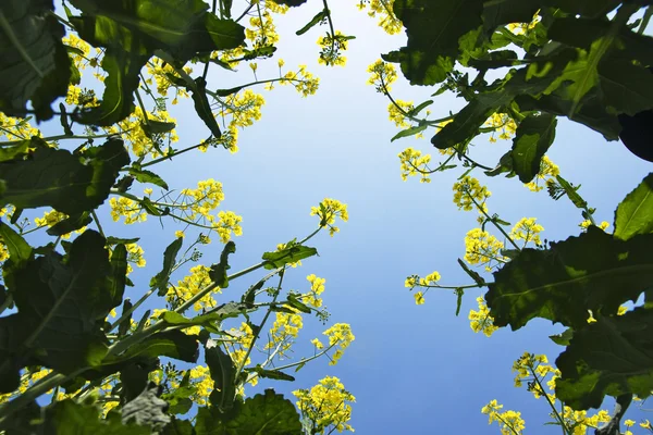
M213 391L209 400L220 411L226 411L234 405L236 397L236 364L219 345L207 343L205 361L213 380Z

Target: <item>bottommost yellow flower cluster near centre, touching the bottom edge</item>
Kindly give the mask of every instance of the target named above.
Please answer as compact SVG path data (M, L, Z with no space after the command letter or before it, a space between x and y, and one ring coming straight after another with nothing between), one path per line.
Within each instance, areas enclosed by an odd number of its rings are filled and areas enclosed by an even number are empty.
M331 433L333 431L350 431L354 428L347 423L352 419L352 406L356 398L345 389L341 380L326 376L309 389L293 391L297 398L297 408L303 419L312 422L317 433ZM333 427L330 432L329 427Z

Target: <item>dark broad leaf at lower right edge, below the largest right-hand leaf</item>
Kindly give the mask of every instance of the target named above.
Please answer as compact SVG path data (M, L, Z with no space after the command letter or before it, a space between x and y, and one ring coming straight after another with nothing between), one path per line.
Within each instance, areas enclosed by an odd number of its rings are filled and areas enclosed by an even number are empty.
M555 394L572 409L599 408L606 395L653 390L653 311L636 308L624 315L602 316L575 331L556 359L562 376Z

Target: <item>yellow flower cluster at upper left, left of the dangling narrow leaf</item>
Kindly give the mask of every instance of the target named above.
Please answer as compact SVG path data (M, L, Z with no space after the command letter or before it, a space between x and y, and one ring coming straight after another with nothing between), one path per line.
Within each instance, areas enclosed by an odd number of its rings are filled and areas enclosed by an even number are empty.
M156 112L147 112L147 119L152 121L160 121L167 123L176 123L176 120L170 116L170 114L163 110L159 110ZM106 132L112 135L120 135L127 144L131 145L132 151L137 157L143 157L146 154L150 154L152 158L160 157L157 147L155 147L155 140L160 140L164 138L170 142L176 142L180 140L176 135L176 129L172 129L169 133L164 133L160 136L152 137L151 139L147 137L144 130L144 126L147 124L146 119L143 114L143 110L140 107L136 107L134 113L132 113L125 120L119 122L116 125L112 125L109 128L106 128Z

